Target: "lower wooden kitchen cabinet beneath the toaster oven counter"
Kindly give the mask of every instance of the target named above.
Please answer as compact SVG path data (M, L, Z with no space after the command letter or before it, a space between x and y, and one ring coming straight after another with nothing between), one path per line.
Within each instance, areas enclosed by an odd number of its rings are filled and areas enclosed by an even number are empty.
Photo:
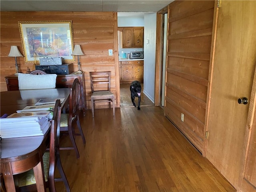
M144 61L121 61L119 67L120 84L131 83L134 80L143 83Z

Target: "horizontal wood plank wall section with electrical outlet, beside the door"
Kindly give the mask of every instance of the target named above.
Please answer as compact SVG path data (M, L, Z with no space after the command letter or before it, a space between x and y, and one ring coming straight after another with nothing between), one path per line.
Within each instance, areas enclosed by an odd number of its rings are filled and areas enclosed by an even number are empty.
M169 5L164 111L200 152L205 140L213 16L214 1L174 1Z

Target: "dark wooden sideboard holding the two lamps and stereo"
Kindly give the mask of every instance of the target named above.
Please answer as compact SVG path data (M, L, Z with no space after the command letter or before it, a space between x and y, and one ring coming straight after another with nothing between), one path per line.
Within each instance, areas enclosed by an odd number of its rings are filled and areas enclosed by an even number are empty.
M69 74L69 75L57 75L56 78L56 88L71 88L74 80L78 78L81 84L81 100L80 100L80 109L83 110L85 116L86 110L86 94L85 94L85 85L84 85L84 73L82 74ZM10 75L5 77L6 86L8 91L19 90L18 76Z

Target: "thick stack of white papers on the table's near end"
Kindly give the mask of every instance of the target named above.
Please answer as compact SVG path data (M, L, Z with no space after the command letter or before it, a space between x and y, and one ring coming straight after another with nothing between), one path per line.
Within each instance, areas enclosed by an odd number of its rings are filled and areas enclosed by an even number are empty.
M47 116L2 118L0 119L0 135L2 138L28 137L44 135L50 122Z

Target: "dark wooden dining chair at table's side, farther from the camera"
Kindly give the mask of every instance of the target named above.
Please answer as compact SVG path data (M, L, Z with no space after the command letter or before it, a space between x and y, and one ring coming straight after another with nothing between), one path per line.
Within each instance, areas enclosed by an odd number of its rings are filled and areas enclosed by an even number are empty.
M61 122L60 122L60 131L67 132L70 140L72 142L72 147L60 147L60 150L75 150L76 151L76 158L80 158L78 148L76 146L74 136L80 135L83 140L83 144L85 144L84 133L81 128L80 119L79 119L79 102L80 102L80 88L81 85L79 80L76 78L70 88L70 95L69 95L69 106L68 106L68 113L61 114ZM74 132L73 123L76 122L78 130L80 133Z

